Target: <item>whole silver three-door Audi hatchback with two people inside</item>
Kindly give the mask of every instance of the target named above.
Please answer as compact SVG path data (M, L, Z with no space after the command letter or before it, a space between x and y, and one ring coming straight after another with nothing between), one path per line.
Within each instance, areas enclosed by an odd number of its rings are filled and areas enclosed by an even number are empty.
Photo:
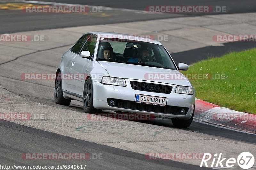
M195 90L164 46L142 36L85 33L63 54L56 71L55 103L83 102L84 112L159 115L190 126Z

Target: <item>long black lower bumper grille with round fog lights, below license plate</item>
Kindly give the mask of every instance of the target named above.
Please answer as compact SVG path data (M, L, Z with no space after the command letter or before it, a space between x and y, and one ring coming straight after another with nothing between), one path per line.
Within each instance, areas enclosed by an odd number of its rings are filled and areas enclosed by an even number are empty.
M110 100L115 101L114 106L109 104ZM165 114L172 114L172 115L186 115L188 112L188 107L156 106L156 105L149 105L149 104L144 104L144 103L136 103L135 101L111 99L111 98L108 98L108 105L112 106L112 107L119 107L119 108L140 110L140 111L147 111L147 112L155 112L155 113L165 113ZM185 114L180 113L181 109L186 110Z

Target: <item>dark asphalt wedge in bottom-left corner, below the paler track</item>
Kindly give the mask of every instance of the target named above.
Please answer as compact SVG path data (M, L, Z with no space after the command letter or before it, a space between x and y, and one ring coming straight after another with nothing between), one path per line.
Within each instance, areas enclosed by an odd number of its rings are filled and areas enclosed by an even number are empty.
M99 145L84 140L79 140L71 137L65 137L62 135L29 128L26 126L18 125L15 123L3 121L1 126L1 164L15 164L23 166L36 166L38 164L43 165L84 165L84 160L48 160L48 161L20 161L20 155L34 146L35 152L41 152L42 149L47 146L48 152L71 152L71 153L101 153L104 159L88 159L86 165L90 169L145 169L150 167L152 169L197 169L198 166L175 162L172 160L148 160L145 159L145 155L124 151L118 148L113 148L105 145ZM9 134L15 136L15 139L11 139ZM19 139L19 140L17 140ZM22 142L21 142L22 141ZM38 147L43 146L43 147ZM208 168L202 168L208 169Z

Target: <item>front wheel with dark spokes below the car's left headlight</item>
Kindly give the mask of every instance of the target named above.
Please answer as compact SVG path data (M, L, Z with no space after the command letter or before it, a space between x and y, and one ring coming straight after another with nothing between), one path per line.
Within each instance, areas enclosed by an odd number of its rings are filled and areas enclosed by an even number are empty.
M83 108L86 113L99 113L101 110L93 107L92 79L88 78L84 84Z

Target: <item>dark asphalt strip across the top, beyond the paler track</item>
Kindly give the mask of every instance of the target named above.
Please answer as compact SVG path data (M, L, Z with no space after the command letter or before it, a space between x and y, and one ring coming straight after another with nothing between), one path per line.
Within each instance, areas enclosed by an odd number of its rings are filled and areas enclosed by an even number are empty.
M201 16L208 14L221 14L221 13L162 13L162 14L152 14L145 12L146 6L160 6L160 5L202 5L202 6L226 6L227 12L225 13L244 13L244 12L256 12L256 1L254 0L172 0L172 1L155 1L155 0L138 0L135 3L129 1L100 1L100 0L90 0L90 1L69 1L69 0L42 0L34 1L35 4L42 4L42 2L55 2L55 3L72 3L81 5L92 5L92 6L103 6L110 8L103 8L103 13L80 13L80 14L68 14L65 13L64 17L60 13L24 13L20 10L5 10L6 5L3 6L4 10L0 10L0 23L4 25L0 28L0 33L15 33L20 31L32 31L32 30L43 30L51 28L63 28L63 27L73 27L73 26L88 26L97 24L111 24L120 22L132 22L132 21L142 21L160 18L175 18L175 17L187 17L187 16ZM26 3L24 3L26 2ZM21 4L31 4L30 1L20 0L2 0L1 4L7 3L21 3ZM40 3L36 3L40 2ZM1 6L0 6L1 7ZM11 5L9 7L15 9Z

